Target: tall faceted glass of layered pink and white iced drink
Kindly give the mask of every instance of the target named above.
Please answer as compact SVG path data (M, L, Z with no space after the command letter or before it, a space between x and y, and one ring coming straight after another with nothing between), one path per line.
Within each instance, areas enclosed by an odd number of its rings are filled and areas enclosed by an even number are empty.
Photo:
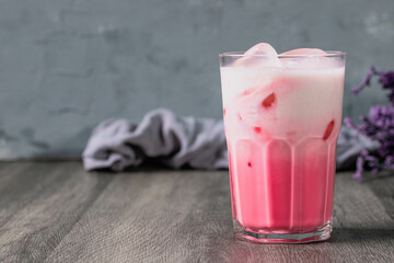
M221 54L220 75L235 237L328 239L345 54L262 43Z

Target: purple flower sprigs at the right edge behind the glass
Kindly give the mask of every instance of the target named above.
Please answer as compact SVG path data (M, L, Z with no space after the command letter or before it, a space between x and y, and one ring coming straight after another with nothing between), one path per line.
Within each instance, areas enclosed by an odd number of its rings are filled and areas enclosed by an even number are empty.
M394 170L394 71L378 71L371 67L361 84L352 90L358 94L371 84L371 79L378 77L379 83L387 90L391 105L375 105L370 107L369 117L360 116L360 124L355 124L350 118L345 118L347 126L357 129L370 139L378 141L380 147L376 151L362 151L357 159L355 179L361 180L362 171L368 168L372 173L382 170Z

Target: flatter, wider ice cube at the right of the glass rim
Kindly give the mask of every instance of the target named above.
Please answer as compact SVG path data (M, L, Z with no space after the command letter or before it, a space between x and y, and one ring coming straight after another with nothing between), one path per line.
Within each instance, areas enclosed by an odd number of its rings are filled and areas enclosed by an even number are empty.
M320 69L334 66L334 59L318 48L297 48L279 55L286 68Z

